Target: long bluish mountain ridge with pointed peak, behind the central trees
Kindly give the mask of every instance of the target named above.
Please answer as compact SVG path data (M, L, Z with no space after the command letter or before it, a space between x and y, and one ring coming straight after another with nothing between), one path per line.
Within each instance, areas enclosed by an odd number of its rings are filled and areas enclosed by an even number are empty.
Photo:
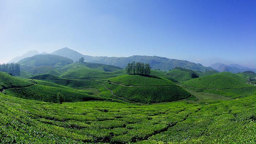
M62 48L51 54L73 59L74 62L78 61L79 58L84 57L86 62L109 64L119 66L121 68L125 68L127 66L127 63L132 63L133 61L135 61L149 63L152 69L160 69L165 71L174 69L177 66L200 71L205 71L206 69L213 70L210 67L205 67L202 64L192 63L187 60L168 59L158 56L133 55L131 57L93 57L89 55L82 55L81 53L69 48Z

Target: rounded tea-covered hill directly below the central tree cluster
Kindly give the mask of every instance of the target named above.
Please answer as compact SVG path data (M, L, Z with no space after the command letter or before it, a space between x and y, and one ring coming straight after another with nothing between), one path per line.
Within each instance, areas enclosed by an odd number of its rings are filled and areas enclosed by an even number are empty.
M122 97L132 102L170 102L191 96L174 82L156 76L122 75L100 82L111 90L114 98Z

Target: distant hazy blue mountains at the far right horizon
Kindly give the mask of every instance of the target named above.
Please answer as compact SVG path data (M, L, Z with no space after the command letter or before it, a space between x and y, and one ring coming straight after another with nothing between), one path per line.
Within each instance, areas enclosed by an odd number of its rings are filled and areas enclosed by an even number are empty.
M222 63L215 63L210 65L210 67L217 69L220 72L231 72L231 73L239 73L239 72L248 71L248 70L256 71L256 69L247 68L238 64L225 65Z

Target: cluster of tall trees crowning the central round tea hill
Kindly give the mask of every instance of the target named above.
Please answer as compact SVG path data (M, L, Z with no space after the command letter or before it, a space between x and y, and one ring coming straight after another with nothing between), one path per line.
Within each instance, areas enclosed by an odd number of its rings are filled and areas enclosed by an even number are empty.
M148 63L128 63L126 66L127 74L150 75L150 65Z

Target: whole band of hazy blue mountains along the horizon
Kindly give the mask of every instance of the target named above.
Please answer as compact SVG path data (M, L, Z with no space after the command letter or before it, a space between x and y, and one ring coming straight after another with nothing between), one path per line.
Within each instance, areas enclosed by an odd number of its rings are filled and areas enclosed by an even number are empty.
M33 55L37 55L37 54L49 54L49 53L46 53L46 52L39 53L36 50L31 50L26 54L23 54L22 56L12 59L10 62L18 62L21 59L32 57ZM76 52L75 50L72 50L66 47L56 50L50 54L66 57L66 58L72 59L74 62L78 61L79 58L84 57L85 62L109 64L109 65L119 66L121 68L125 68L127 63L132 63L133 61L135 61L135 62L149 63L152 69L160 69L164 71L169 71L170 69L174 69L177 66L182 68L193 69L193 70L200 70L200 71L215 69L220 72L229 71L231 73L238 73L238 72L247 71L247 70L256 71L256 69L247 68L238 64L225 65L222 63L215 63L210 65L210 67L206 67L206 66L203 66L202 64L199 64L199 63L196 64L193 62L189 62L187 60L169 59L169 58L158 57L158 56L133 55L131 57L94 57L90 55L83 55L79 52Z

